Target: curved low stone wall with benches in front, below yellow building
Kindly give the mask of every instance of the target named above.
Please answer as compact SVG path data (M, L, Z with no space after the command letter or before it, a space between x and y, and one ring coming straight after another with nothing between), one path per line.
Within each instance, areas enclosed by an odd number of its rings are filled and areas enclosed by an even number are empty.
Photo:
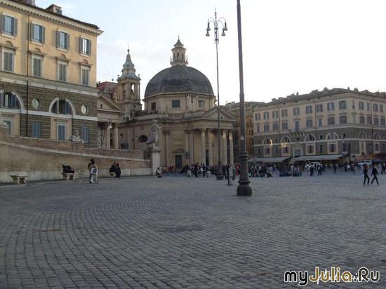
M27 174L28 180L60 180L62 163L72 166L77 177L88 177L90 159L95 160L100 176L109 175L113 161L119 163L122 176L151 175L151 163L143 155L140 151L84 149L79 143L36 140L0 132L0 182L11 182L13 174Z

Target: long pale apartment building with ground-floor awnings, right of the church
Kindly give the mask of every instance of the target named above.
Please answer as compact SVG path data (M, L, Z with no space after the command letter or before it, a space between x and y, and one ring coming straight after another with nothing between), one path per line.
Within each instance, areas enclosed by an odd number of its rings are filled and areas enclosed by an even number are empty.
M255 109L255 159L374 159L386 153L385 119L386 93L324 88L274 99Z

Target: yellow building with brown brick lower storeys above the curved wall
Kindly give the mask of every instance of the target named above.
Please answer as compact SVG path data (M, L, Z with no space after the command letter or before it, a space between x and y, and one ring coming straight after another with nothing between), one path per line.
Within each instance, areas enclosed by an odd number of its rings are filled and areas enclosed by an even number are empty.
M33 0L1 0L0 18L0 112L9 133L68 140L78 130L96 145L102 31Z

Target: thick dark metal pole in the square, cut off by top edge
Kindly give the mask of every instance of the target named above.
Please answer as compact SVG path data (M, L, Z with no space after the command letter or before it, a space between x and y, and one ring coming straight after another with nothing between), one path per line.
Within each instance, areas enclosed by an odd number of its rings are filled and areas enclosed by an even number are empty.
M241 39L241 7L240 0L237 0L237 32L239 35L239 79L240 79L240 124L241 124L241 148L240 159L240 179L237 186L237 196L252 196L251 181L248 178L248 152L246 152L246 125L245 125L245 105L244 105L244 74L243 74L243 43Z

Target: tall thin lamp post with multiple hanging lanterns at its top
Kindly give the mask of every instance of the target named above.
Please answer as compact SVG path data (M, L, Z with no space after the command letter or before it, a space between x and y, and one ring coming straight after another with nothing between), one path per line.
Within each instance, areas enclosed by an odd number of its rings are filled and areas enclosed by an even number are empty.
M211 36L209 32L211 31L211 23L214 26L214 36L215 36L215 58L216 58L216 68L217 68L217 112L218 112L218 164L217 164L217 180L222 180L224 176L222 175L222 165L221 165L221 139L220 139L220 92L218 84L218 25L222 26L221 36L225 36L225 31L227 31L227 20L225 18L217 18L217 12L215 11L215 18L208 19L208 27L206 27L206 36Z

